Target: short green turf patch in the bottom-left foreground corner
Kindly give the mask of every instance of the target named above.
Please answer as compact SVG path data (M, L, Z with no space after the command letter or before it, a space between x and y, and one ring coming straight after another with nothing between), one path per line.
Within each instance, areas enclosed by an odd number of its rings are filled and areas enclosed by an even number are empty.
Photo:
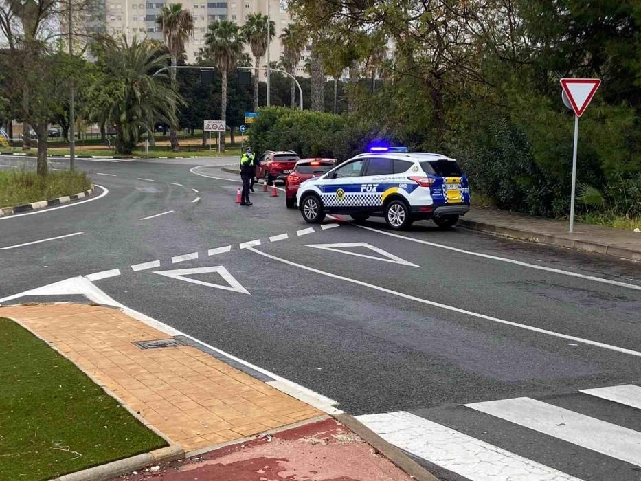
M0 480L55 478L166 445L24 328L0 317L0 333Z

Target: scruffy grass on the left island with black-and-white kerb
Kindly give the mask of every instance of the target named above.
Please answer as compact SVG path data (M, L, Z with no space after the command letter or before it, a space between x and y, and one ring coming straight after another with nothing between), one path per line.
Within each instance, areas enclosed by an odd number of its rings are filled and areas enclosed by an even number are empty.
M0 207L47 201L89 188L85 172L49 172L41 177L30 171L0 171Z

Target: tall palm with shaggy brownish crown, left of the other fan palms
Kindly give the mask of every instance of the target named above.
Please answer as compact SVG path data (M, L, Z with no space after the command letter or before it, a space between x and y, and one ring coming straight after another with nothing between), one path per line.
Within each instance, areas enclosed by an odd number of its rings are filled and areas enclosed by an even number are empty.
M182 3L164 6L156 19L161 28L165 45L171 55L171 65L176 67L178 58L185 52L185 43L194 34L194 17L189 10L183 10ZM176 85L176 69L170 69L172 85ZM172 150L178 150L177 125L170 125L169 139Z

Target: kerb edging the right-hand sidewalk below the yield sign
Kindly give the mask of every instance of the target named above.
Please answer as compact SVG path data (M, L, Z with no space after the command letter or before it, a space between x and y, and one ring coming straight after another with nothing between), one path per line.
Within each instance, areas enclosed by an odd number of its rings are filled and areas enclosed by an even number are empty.
M517 240L525 240L526 242L556 245L558 247L565 247L567 249L573 249L583 252L596 252L598 254L605 254L607 256L613 256L623 260L635 260L637 262L641 261L641 251L625 249L625 247L617 247L616 245L591 242L589 240L574 240L561 236L539 234L537 232L528 232L526 230L514 229L512 227L501 227L499 225L470 221L467 219L459 219L458 225L460 227L466 227L469 230L486 232L488 234L495 234L497 236L513 238Z

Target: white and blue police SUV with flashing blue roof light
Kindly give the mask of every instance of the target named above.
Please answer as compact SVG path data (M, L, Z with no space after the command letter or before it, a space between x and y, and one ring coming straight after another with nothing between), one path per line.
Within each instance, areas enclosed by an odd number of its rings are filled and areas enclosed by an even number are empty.
M383 216L395 230L420 219L445 228L469 211L470 194L467 177L454 159L374 146L303 182L297 203L308 223L322 222L331 213L348 214L355 221Z

